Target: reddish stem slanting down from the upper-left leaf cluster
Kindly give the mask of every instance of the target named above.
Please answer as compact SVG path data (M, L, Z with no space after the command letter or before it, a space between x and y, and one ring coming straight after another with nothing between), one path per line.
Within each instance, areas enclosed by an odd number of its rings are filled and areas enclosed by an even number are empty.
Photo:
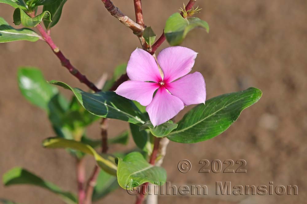
M91 90L98 92L100 91L94 83L89 81L85 75L81 74L78 69L76 69L70 61L63 55L63 53L60 51L59 47L56 46L56 44L52 41L50 35L47 34L47 32L44 30L44 28L41 26L41 24L38 24L36 26L37 30L41 33L43 40L50 46L53 53L59 58L61 61L62 66L66 67L68 71L75 76L81 83L84 83L89 87Z

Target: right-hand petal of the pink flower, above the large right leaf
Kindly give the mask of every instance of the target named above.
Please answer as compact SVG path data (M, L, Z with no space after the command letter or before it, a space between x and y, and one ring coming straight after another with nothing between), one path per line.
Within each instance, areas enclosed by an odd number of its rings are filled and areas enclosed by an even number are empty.
M188 74L177 81L168 83L167 90L180 98L185 106L204 103L206 101L206 84L199 72Z

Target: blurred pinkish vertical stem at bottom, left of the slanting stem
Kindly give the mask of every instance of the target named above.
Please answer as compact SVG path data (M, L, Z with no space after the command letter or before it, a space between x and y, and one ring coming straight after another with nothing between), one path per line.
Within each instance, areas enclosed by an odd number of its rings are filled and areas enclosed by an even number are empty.
M78 200L79 204L84 203L85 191L84 191L84 182L85 182L85 168L84 168L84 159L77 159L76 164L77 172L77 184L78 184Z

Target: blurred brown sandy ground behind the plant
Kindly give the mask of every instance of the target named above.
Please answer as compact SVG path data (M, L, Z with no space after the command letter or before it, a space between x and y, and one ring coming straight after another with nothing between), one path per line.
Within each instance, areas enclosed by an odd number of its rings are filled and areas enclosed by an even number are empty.
M155 2L155 3L153 3ZM114 1L134 19L132 0ZM193 71L204 75L207 98L258 87L261 100L244 110L238 121L222 135L197 144L169 144L163 167L168 181L179 185L205 184L206 196L159 197L159 203L305 203L307 133L307 1L305 0L216 0L199 1L198 14L210 25L210 34L191 32L182 44L199 53ZM145 23L161 35L165 20L182 1L143 1ZM13 24L13 8L0 4L0 16ZM112 17L102 2L69 0L52 38L82 73L95 81L103 73L127 62L140 46L132 32ZM164 43L158 50L168 46ZM22 166L65 190L76 192L75 161L64 150L45 150L41 141L53 136L45 113L20 94L16 73L22 65L39 67L47 80L60 80L86 90L72 77L44 42L0 44L0 175ZM63 91L67 96L69 91ZM177 116L180 119L189 108ZM109 135L128 125L112 121ZM88 131L99 137L99 125ZM110 152L133 147L114 146ZM192 163L190 172L178 171L182 159ZM201 159L244 159L247 173L198 173ZM93 161L87 158L87 173ZM216 182L232 185L297 185L298 195L214 196ZM210 190L211 189L211 190ZM0 198L23 204L62 203L55 195L32 186L0 186ZM134 197L118 189L97 203L134 203Z

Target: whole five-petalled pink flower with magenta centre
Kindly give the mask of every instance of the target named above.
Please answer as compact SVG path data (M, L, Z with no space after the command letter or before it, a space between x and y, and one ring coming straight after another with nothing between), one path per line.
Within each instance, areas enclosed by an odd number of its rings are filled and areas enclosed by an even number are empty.
M147 106L154 127L162 124L176 116L184 106L206 100L204 77L199 72L188 74L196 55L195 51L181 46L162 50L157 57L164 75L161 76L154 57L137 48L127 65L130 81L122 83L115 92Z

